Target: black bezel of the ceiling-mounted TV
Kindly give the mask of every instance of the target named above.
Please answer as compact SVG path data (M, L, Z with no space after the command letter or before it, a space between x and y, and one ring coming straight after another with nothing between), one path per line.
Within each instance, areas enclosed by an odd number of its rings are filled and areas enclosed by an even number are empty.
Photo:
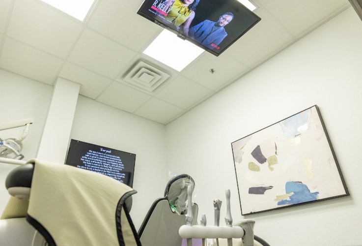
M218 57L220 56L225 50L227 50L233 43L235 43L240 37L242 37L246 32L248 32L252 27L254 27L260 20L261 18L259 16L257 16L253 11L251 11L249 8L247 8L245 5L243 5L241 2L237 1L237 0L227 0L227 1L236 1L237 3L240 4L240 8L243 8L245 11L249 12L251 15L253 15L254 17L256 17L256 21L248 28L246 29L245 31L243 31L242 33L240 33L240 35L238 35L236 38L234 38L234 40L232 42L230 42L225 48L222 49L222 51L220 53L218 52L215 52L214 50L211 50L205 46L203 46L202 44L196 42L194 39L188 37L188 36L185 36L183 35L182 33L172 29L171 27L165 25L164 23L156 20L155 18L152 18L151 16L143 13L141 11L141 9L144 8L146 2L149 1L149 0L143 0L141 6L139 7L138 11L137 11L137 14L139 14L140 16L146 18L147 20L153 22L153 23L156 23L157 25L161 26L162 28L168 30L168 31L171 31L173 32L174 34L176 34L179 38L183 39L183 40L187 40L193 44L195 44L196 46L200 47L201 49L209 52L210 54L213 54L214 56Z

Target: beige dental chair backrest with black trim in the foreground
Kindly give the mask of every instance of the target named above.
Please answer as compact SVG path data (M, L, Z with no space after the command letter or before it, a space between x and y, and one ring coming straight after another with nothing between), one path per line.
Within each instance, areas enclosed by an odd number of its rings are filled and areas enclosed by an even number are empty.
M136 193L131 187L64 164L28 163L34 170L26 218L49 246L140 246L125 202ZM19 201L9 202L22 207ZM2 217L11 214L16 213Z

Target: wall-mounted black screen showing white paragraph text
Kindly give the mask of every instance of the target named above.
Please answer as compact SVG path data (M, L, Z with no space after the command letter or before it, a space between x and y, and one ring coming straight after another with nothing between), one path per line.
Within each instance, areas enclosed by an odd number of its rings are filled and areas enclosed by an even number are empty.
M65 164L107 175L132 187L135 161L136 154L71 139Z

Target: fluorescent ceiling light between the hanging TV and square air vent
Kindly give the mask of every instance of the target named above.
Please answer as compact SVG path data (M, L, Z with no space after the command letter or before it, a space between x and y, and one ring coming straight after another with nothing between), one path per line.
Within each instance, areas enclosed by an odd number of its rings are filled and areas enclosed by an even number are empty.
M183 40L165 29L143 51L143 54L180 72L202 52L204 50L195 44Z

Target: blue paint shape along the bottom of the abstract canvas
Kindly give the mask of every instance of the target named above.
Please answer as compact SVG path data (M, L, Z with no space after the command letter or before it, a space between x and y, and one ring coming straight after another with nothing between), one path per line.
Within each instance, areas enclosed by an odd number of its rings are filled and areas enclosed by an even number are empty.
M288 200L278 201L278 205L290 205L299 204L303 202L310 202L317 200L319 192L311 193L306 184L302 182L289 181L285 184L285 192L294 194L289 197Z

